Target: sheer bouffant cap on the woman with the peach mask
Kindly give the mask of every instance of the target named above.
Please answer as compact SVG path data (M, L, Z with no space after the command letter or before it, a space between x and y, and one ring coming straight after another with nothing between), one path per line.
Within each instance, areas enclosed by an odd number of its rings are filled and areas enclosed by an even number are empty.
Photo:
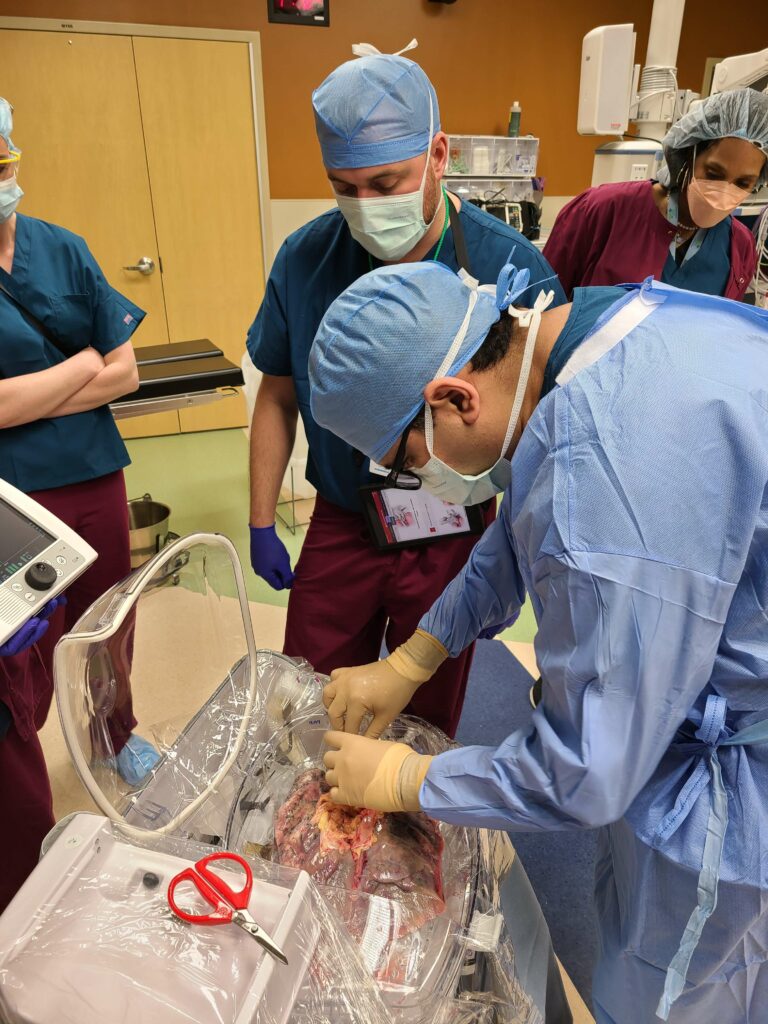
M658 180L663 185L678 185L690 146L721 138L742 138L768 157L768 95L756 89L731 89L696 103L662 141L666 163L658 172ZM757 187L766 182L768 163L763 165Z

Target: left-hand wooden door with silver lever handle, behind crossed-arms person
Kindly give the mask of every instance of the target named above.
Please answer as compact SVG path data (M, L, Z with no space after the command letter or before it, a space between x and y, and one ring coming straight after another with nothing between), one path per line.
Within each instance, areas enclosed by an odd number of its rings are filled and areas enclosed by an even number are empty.
M134 345L167 342L131 39L3 29L0 53L0 95L23 151L19 212L83 236L110 284L146 310ZM141 256L155 273L122 269ZM176 413L121 423L129 437L178 429Z

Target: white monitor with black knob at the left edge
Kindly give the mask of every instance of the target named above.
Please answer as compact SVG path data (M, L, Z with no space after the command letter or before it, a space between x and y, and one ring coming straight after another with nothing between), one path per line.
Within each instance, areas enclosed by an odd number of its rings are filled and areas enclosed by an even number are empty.
M0 643L96 560L52 512L0 479Z

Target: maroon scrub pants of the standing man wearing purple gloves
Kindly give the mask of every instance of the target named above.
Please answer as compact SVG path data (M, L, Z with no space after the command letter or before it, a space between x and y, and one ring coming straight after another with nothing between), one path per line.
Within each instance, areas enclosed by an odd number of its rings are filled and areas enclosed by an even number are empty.
M484 510L493 522L496 502ZM394 650L464 567L477 537L458 537L419 548L377 550L361 515L317 495L296 564L284 652L305 657L317 671L366 665L382 640ZM474 645L443 662L416 691L406 711L454 736L459 725Z

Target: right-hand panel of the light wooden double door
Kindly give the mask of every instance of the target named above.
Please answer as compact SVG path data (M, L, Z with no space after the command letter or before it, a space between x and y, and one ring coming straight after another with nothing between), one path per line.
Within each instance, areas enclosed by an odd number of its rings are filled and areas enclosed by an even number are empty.
M264 293L250 51L134 37L171 341L210 338L240 365ZM181 429L246 423L242 396L179 413Z

